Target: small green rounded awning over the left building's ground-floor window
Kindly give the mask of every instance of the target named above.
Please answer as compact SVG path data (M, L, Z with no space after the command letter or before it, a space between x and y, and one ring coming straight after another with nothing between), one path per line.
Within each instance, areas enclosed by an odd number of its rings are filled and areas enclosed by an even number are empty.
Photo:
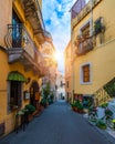
M27 79L19 72L10 72L8 75L8 81L25 82Z

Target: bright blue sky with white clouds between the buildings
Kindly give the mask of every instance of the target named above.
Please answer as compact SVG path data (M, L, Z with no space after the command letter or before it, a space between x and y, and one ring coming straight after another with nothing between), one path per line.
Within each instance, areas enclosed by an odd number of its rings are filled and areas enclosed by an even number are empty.
M63 52L71 38L70 9L76 0L43 0L43 20L51 32L53 44L59 53L59 70L64 71Z

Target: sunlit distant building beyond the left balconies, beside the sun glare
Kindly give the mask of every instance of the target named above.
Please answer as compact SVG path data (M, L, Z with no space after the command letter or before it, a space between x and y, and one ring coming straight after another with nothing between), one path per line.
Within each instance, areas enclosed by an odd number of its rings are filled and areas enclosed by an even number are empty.
M43 58L49 66L46 75L42 79L42 86L45 88L50 83L51 92L55 95L55 83L56 83L56 70L58 70L58 60L55 59L55 48L52 42L44 42L43 49L41 50Z

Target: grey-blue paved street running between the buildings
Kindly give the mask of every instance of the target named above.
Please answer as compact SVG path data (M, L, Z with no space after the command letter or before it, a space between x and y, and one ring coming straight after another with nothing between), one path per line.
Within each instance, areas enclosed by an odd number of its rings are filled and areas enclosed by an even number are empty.
M24 132L11 133L0 144L115 144L115 138L60 101L34 117Z

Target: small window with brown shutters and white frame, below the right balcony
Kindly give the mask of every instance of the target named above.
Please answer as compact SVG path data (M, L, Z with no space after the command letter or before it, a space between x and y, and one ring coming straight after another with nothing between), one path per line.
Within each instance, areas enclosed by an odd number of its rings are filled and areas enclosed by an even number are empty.
M91 63L81 66L81 84L91 84Z

